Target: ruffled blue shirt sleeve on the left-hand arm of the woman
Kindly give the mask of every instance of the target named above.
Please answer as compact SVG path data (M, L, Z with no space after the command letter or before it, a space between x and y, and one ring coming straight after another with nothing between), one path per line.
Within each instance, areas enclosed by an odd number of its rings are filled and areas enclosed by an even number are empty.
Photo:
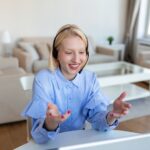
M23 116L32 118L31 135L36 143L45 143L54 139L59 132L59 127L55 131L47 131L43 128L48 102L52 102L50 92L47 89L51 89L49 81L41 75L35 76L32 100L22 112Z

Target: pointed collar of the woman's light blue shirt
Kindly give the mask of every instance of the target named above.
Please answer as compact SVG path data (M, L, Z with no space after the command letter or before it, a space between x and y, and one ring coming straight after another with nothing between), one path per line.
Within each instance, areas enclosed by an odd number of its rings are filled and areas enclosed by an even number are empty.
M56 74L56 80L57 80L59 88L62 88L64 85L68 85L69 87L72 87L72 85L75 85L76 87L79 87L80 78L81 78L81 75L79 73L71 81L64 77L64 75L62 74L59 68L56 69L55 74Z

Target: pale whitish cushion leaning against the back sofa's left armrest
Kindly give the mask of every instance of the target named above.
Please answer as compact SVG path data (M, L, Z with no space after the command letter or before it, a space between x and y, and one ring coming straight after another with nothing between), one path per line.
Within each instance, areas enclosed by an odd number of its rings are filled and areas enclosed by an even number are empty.
M33 61L39 59L39 55L36 49L34 48L33 44L27 42L19 42L18 46L22 48L24 51L30 53Z

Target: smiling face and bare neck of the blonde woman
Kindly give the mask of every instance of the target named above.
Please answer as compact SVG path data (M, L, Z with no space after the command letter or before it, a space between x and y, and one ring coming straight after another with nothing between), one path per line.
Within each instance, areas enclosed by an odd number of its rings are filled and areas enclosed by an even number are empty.
M72 80L87 62L83 40L78 36L66 37L58 47L57 60L63 75Z

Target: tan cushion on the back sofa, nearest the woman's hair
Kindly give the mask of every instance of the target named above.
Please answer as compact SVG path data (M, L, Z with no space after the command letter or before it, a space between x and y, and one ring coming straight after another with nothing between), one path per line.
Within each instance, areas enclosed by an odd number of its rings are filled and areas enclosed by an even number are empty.
M36 43L35 48L40 56L40 59L48 59L49 58L49 48L46 43Z

